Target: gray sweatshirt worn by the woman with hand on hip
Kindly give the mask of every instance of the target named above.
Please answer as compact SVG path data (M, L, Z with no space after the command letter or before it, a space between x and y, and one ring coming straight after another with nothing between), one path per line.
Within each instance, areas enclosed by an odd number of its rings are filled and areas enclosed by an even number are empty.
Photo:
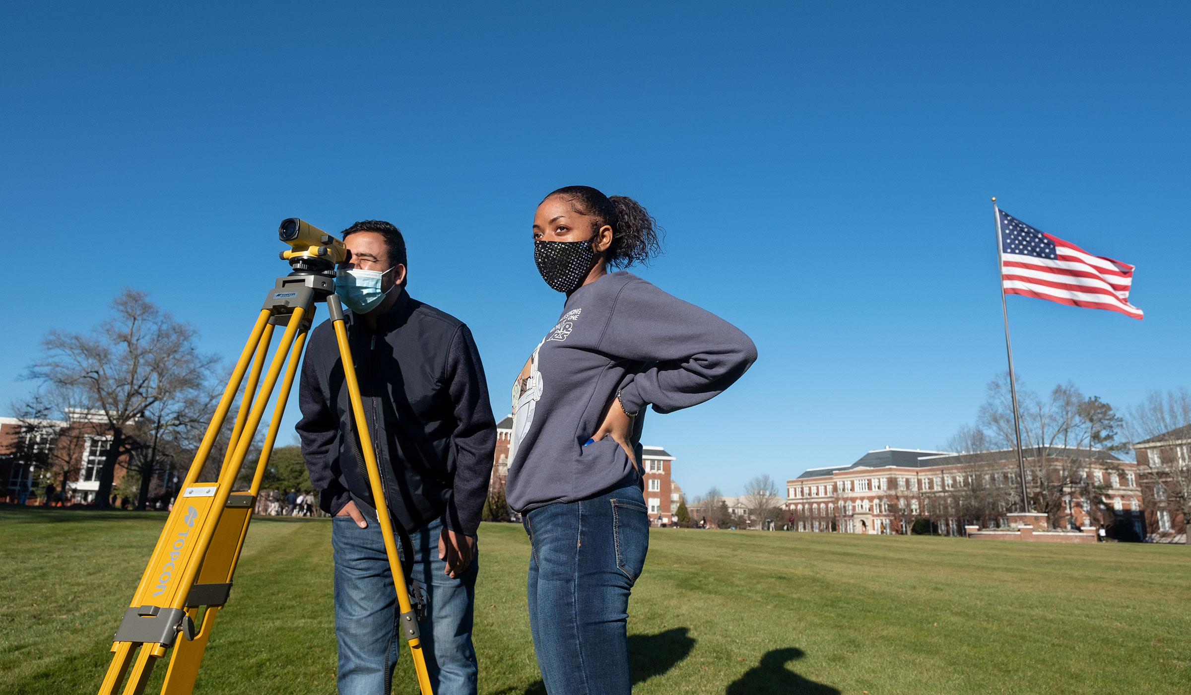
M756 346L713 314L619 271L575 290L513 385L509 505L530 511L637 479L611 438L586 443L621 391L641 460L644 407L690 408L756 360ZM586 445L586 446L585 446Z

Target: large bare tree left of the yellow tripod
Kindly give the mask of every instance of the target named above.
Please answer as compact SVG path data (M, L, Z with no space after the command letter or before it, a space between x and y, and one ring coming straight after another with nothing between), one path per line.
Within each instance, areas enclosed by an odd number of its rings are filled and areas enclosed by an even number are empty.
M49 331L30 376L77 401L106 421L111 445L99 473L95 502L107 507L117 463L139 443L137 421L162 402L202 384L217 358L198 352L197 334L125 287L113 316L88 333ZM185 396L183 396L185 398Z

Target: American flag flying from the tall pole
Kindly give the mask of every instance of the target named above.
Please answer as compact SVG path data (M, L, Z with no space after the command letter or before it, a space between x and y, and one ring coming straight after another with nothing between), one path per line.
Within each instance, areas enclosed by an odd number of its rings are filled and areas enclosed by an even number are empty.
M1133 266L1093 256L1078 246L1039 231L997 210L1000 231L1000 285L1006 294L1024 294L1071 306L1108 309L1134 318L1129 304Z

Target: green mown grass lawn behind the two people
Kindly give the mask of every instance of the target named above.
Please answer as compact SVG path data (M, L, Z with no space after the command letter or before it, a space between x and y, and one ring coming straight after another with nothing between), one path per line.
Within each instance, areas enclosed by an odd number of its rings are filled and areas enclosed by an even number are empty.
M95 691L164 519L0 507L0 693ZM197 693L335 691L330 533L252 522ZM480 547L480 691L544 693L525 533ZM656 529L629 612L641 695L1191 693L1186 546Z

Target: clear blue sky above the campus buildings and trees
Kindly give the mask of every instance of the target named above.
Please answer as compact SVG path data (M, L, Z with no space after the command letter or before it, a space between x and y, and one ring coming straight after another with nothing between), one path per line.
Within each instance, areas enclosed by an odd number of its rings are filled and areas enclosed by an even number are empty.
M649 416L688 494L971 422L1005 368L990 196L1137 266L1145 321L1009 298L1030 385L1191 381L1185 4L431 5L6 5L0 403L124 285L231 358L280 219L385 218L499 417L562 300L534 207L570 184L641 200L668 238L640 274L760 349Z

